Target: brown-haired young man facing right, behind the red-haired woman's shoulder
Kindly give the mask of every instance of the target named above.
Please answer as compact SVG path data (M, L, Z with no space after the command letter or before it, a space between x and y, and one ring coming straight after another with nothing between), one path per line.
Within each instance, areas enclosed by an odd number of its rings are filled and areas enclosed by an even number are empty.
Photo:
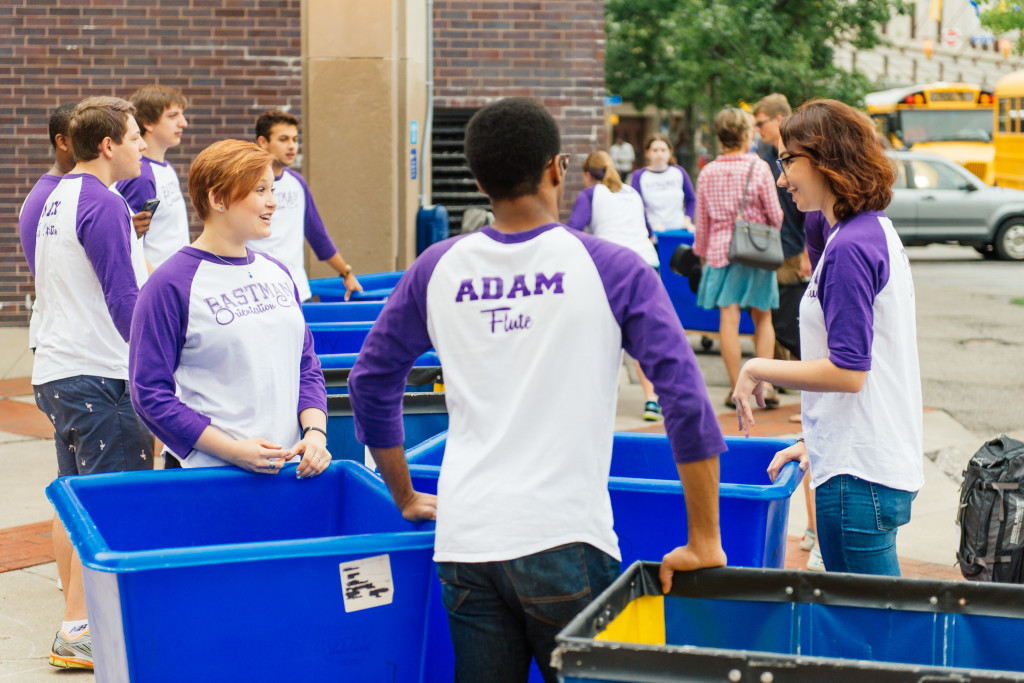
M135 119L142 129L146 151L142 172L137 178L118 182L117 189L131 207L136 233L142 239L145 258L156 268L172 254L191 242L188 211L181 195L181 181L167 161L167 152L181 144L185 120L184 96L166 85L147 85L131 96ZM157 200L153 211L145 203Z

